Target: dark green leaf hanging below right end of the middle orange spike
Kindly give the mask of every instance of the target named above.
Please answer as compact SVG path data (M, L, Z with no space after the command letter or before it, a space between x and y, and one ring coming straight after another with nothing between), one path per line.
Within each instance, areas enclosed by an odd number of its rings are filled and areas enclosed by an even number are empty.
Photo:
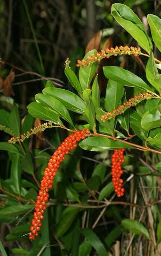
M130 127L140 139L146 140L148 132L141 127L141 117L134 110L130 111Z

